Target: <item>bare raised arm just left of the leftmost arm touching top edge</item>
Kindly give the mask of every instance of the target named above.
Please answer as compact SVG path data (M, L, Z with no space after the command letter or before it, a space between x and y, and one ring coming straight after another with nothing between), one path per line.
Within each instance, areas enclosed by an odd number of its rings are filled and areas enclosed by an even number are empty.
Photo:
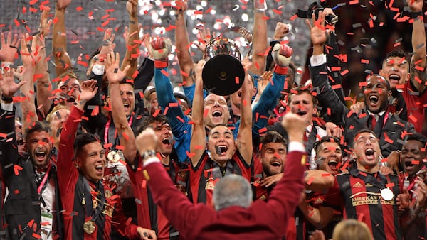
M51 11L50 7L43 9L40 16L40 25L38 26L38 34L33 38L33 45L35 45L38 52L38 57L36 59L36 69L34 74L36 77L36 98L38 109L41 111L41 116L43 119L48 115L48 111L51 109L52 99L52 84L51 79L49 78L48 72L48 62L46 62L46 45L45 37L51 31L52 20L48 21L48 14Z

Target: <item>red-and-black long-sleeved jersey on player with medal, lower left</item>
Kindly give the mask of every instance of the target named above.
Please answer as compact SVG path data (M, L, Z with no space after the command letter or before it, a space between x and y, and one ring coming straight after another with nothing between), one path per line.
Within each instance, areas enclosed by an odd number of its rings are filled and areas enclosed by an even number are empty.
M130 238L138 237L137 226L127 223L127 219L122 213L120 197L112 195L112 190L108 185L86 180L74 166L73 143L82 115L83 111L73 106L70 116L65 122L66 127L60 135L57 173L63 204L64 239L109 240L112 227ZM83 224L90 220L90 216L86 217L86 210L90 208L88 207L90 203L93 205L93 209L96 209L97 205L103 207L93 221L96 225L95 231L88 234L83 231ZM117 224L112 226L112 222Z

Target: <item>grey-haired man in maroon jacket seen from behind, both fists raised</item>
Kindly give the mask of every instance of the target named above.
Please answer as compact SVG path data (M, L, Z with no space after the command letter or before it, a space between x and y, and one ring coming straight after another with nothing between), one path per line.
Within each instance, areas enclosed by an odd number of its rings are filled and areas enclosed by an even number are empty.
M137 137L142 153L143 174L154 202L162 207L172 225L184 239L281 239L290 214L300 201L307 153L302 145L305 127L295 114L283 117L288 131L288 160L282 180L271 192L268 202L252 203L251 186L238 175L222 178L214 190L212 209L206 204L192 204L174 187L156 156L157 136L146 129ZM243 179L242 179L243 178Z

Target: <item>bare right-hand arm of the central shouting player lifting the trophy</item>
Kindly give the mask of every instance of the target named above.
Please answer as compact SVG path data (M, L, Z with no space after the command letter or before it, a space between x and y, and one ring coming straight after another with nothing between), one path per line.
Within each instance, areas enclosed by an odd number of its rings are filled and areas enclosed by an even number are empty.
M242 85L242 97L241 97L241 124L238 128L237 133L237 149L243 160L245 160L248 165L252 163L252 108L251 108L251 98L252 94L250 92L249 84L252 84L248 81L248 69L251 68L252 63L248 58L243 60L243 67L245 67L245 78L246 80Z

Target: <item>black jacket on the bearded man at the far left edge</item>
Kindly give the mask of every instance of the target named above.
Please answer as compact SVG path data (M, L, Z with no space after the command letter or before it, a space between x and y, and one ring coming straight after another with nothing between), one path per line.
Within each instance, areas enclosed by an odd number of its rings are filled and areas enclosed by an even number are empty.
M9 239L37 239L41 227L41 198L37 192L36 175L31 159L19 155L16 147L15 112L0 109L0 132L7 133L6 139L1 143L1 170L3 172L4 185L8 187L9 193L4 202L4 215L6 217L7 231ZM53 178L55 185L58 185L56 178L56 167L53 165L50 171L50 178ZM53 231L55 235L62 239L63 222L60 208L59 192L56 187L54 207L57 209L53 213ZM3 201L2 201L3 202ZM30 224L28 226L28 224ZM33 235L35 234L35 235Z

